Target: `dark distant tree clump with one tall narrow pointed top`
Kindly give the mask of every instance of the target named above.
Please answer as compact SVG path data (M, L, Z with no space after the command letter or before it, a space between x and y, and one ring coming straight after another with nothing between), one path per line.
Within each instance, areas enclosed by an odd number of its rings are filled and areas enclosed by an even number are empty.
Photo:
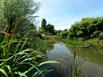
M46 19L43 19L42 22L41 22L41 32L54 35L55 34L54 25L47 24Z

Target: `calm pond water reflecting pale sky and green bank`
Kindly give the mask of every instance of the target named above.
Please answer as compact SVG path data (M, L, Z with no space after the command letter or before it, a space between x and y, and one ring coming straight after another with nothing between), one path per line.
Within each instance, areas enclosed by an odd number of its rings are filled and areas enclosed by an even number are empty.
M83 64L84 74L89 75L89 77L103 77L102 50L102 47L69 48L64 44L56 43L52 49L47 51L47 58L48 60L58 61L60 65L52 66L54 71L48 73L47 77L69 77L68 65L73 59L72 52L74 51L77 52L80 59L87 57Z

